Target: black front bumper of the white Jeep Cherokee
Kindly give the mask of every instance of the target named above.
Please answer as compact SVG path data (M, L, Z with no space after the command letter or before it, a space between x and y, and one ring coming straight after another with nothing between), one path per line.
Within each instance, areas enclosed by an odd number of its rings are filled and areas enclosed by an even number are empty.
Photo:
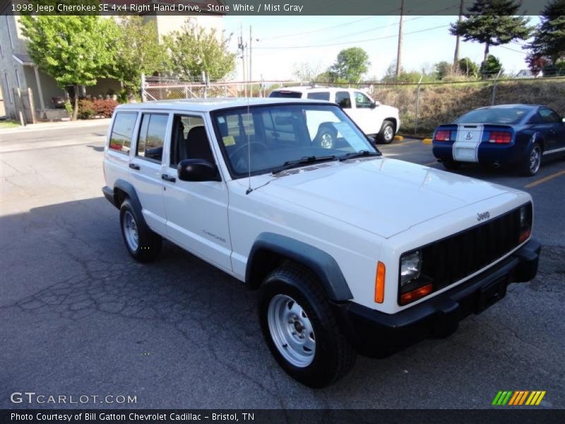
M358 303L335 303L343 332L362 355L382 357L424 338L446 337L461 319L479 314L504 298L506 287L530 281L537 273L541 245L530 240L495 266L427 301L397 314L385 314Z

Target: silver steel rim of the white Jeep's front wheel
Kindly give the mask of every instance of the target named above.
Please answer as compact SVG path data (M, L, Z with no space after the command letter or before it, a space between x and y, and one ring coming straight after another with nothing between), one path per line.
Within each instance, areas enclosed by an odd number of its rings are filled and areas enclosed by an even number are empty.
M316 353L316 338L310 319L290 296L276 295L268 306L267 322L270 336L281 355L295 367L312 363Z

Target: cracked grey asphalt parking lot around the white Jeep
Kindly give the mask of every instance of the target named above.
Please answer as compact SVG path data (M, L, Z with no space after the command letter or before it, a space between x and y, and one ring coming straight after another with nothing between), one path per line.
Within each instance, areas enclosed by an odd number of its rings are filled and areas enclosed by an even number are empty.
M359 357L338 384L312 390L268 352L256 293L170 243L154 264L129 257L100 192L105 126L1 135L0 408L76 407L13 404L14 391L136 396L84 405L105 408L489 408L518 389L565 408L564 160L533 178L460 171L532 194L534 281L449 338ZM382 151L441 169L417 140Z

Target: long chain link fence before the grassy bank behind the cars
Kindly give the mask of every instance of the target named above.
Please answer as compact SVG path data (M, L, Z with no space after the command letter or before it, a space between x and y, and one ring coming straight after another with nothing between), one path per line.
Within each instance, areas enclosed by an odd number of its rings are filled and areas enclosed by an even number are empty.
M141 97L173 100L218 97L267 97L285 86L309 85L297 81L179 81L170 78L143 78ZM327 86L319 83L320 86ZM384 105L398 107L401 134L429 136L442 123L452 122L477 107L530 103L547 105L565 116L565 77L519 78L449 83L359 83L331 84L359 88Z

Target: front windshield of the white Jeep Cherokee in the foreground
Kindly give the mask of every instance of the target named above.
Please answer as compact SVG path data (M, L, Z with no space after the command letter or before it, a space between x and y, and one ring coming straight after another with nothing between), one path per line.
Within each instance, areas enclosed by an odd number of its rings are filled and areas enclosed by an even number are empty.
M213 112L226 162L234 177L271 172L303 158L377 153L335 105L266 105ZM249 165L251 158L251 165ZM331 158L334 159L334 158Z

